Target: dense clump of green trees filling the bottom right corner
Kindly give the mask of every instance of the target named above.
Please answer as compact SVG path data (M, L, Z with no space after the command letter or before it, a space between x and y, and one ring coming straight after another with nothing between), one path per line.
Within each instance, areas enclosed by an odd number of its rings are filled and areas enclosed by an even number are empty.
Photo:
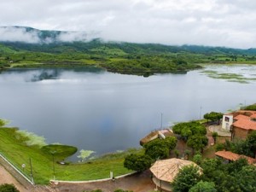
M202 181L215 183L218 192L256 191L256 167L240 159L229 164L218 159L203 160Z

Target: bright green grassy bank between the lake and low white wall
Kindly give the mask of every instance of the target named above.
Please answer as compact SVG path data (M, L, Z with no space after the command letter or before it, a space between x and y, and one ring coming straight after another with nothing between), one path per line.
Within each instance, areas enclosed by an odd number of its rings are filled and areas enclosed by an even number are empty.
M27 138L22 137L15 128L0 128L0 152L4 154L21 172L22 164L26 164L24 172L30 176L30 163L32 160L32 173L37 184L47 184L53 178L53 158L45 154L37 146L26 146ZM55 179L85 181L109 177L112 171L114 177L129 173L124 166L125 153L107 155L97 160L85 163L71 163L60 165L55 162ZM56 160L56 158L55 158Z

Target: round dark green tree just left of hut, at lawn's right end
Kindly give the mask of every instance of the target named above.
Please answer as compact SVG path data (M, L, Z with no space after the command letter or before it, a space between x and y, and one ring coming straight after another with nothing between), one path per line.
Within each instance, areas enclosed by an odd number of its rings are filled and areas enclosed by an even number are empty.
M147 154L129 154L125 157L124 166L127 169L143 172L147 170L152 163L152 159Z

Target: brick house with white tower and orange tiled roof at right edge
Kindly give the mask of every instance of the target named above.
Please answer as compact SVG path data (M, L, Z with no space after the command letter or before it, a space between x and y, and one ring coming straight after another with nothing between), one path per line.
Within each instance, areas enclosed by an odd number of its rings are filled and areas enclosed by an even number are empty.
M256 111L240 110L224 114L222 129L232 133L232 140L246 139L252 131L256 131Z

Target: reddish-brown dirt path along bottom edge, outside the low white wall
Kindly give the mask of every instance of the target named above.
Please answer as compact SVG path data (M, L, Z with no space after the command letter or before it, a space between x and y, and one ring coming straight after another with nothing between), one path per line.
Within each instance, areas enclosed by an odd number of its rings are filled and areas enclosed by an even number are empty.
M84 190L102 189L104 192L113 192L115 189L132 190L133 192L148 192L154 190L149 171L135 174L114 181L100 183L58 183L50 186L23 186L3 166L0 166L0 184L14 184L20 192L82 192Z

